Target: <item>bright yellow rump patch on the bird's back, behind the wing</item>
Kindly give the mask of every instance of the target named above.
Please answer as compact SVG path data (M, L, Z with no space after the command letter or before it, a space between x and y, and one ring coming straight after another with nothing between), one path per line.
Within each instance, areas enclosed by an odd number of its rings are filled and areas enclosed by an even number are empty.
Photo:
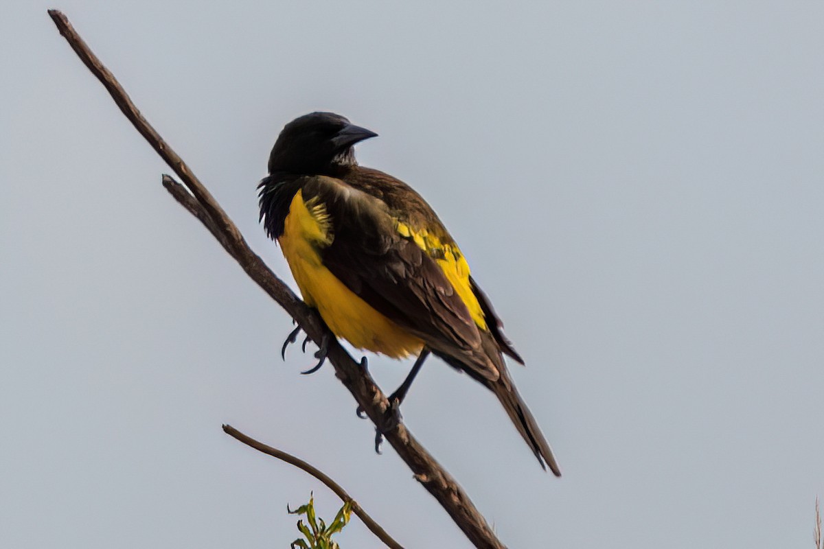
M396 230L404 238L412 240L438 263L438 267L447 276L447 280L455 288L461 301L466 305L466 309L469 309L472 320L475 321L478 328L485 330L484 311L480 308L478 298L475 297L475 292L472 291L469 282L469 263L466 263L466 258L461 254L457 244L444 244L437 236L430 234L428 230L414 230L402 221L396 220Z

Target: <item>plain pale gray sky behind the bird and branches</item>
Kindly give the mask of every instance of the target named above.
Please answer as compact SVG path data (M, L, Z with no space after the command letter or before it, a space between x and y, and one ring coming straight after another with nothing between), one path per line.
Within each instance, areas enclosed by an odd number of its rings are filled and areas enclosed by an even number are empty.
M9 2L0 26L0 546L288 547L335 477L469 547L288 316L160 185L60 7L291 283L255 185L283 124L381 137L527 361L564 472L430 361L403 407L509 547L810 547L824 495L822 2ZM359 356L359 355L357 355ZM409 363L370 356L388 390ZM344 548L380 547L353 519Z

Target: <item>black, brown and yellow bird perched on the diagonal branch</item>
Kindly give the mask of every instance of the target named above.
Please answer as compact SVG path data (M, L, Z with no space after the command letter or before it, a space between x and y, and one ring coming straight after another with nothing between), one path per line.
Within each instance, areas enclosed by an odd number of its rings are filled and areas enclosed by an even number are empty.
M503 323L424 198L400 179L358 165L354 146L371 137L377 133L330 112L287 123L258 186L266 234L335 337L396 359L417 356L390 402L400 405L432 353L494 393L541 467L560 477L504 362L507 355L523 364ZM316 368L325 341L320 347Z

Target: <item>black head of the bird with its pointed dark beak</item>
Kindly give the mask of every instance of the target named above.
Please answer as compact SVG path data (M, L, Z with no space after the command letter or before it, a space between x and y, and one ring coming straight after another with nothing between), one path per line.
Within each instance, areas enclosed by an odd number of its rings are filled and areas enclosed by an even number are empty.
M353 145L375 136L339 114L304 114L283 127L269 156L269 173L325 174L356 165Z

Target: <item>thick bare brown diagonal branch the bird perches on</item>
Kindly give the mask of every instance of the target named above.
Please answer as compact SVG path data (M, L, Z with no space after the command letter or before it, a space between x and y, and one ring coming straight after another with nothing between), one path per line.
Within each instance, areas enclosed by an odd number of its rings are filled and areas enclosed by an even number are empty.
M183 184L177 183L171 177L164 176L163 185L189 212L196 216L210 232L218 239L224 249L235 258L249 277L254 280L272 299L278 302L295 319L298 325L319 343L327 329L323 321L300 300L293 291L289 290L262 259L246 244L240 230L223 212L222 207L212 197L208 190L194 176L192 170L163 140L160 134L152 128L138 108L129 99L123 87L114 75L101 63L100 59L91 52L91 49L74 30L68 18L58 10L49 10L54 24L60 34L68 41L77 56L86 64L92 74L105 86L129 122L146 138L147 142L157 151L166 164L180 177ZM389 402L381 389L377 387L368 370L353 361L334 337L330 338L327 355L330 363L335 367L335 375L344 386L349 389L358 404L363 407L369 419L376 426L384 426L384 418ZM475 547L503 549L503 543L495 536L489 524L472 504L466 492L456 480L438 463L432 454L414 438L406 427L400 423L384 433L386 440L396 450L398 455L414 472L414 477L426 490L438 500L443 509L452 517L458 528L461 528L466 537Z

